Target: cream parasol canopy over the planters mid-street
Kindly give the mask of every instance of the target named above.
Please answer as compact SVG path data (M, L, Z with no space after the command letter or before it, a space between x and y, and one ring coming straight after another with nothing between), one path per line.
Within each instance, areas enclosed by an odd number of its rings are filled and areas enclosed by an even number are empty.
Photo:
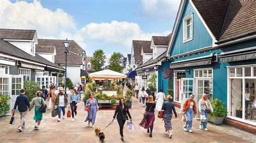
M125 74L118 73L113 70L105 69L101 71L97 71L95 73L89 74L89 77L92 79L99 78L99 79L105 79L105 80L122 80L122 78L125 78Z

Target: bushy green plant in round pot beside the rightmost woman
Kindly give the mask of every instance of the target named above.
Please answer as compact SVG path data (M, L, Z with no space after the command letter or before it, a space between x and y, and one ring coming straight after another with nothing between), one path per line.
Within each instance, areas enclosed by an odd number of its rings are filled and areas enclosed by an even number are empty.
M224 103L219 99L212 101L213 112L209 114L208 121L211 123L220 125L223 123L224 117L227 114L227 109L224 107Z

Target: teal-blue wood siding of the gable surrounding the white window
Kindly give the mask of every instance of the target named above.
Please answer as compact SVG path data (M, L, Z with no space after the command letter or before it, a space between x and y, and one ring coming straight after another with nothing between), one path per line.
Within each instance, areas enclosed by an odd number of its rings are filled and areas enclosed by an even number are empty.
M193 13L193 40L183 43L183 18L187 17L191 13ZM189 1L186 2L185 9L180 20L177 34L174 39L173 46L171 47L171 56L212 45L211 35L206 30Z

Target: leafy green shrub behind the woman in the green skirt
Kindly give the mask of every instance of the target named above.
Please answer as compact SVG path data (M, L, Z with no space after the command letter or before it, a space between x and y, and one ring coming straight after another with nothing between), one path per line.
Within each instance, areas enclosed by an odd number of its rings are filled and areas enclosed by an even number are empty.
M24 81L25 95L29 97L29 101L32 101L36 97L36 92L41 88L38 83L32 81Z

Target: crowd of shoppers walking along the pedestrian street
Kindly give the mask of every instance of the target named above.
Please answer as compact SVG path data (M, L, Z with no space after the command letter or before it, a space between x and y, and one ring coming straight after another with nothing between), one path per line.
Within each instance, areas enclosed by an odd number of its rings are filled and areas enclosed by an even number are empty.
M129 85L129 84L127 84ZM27 110L31 111L32 108L35 108L35 115L33 119L35 120L35 129L40 129L41 120L43 118L43 113L39 111L40 106L46 105L45 100L47 99L48 104L48 110L56 108L58 109L58 121L60 121L61 118L61 111L62 111L62 117L65 118L65 108L68 106L69 109L71 109L72 112L72 119L71 121L74 121L77 118L77 106L80 102L80 89L83 89L83 85L79 84L76 86L77 88L74 88L71 90L71 94L68 97L68 95L64 94L63 88L60 88L61 85L58 87L59 93L56 95L55 90L56 87L54 84L51 85L50 90L47 91L45 87L42 87L41 91L36 92L36 97L32 99L31 102L29 102L28 97L25 95L25 90L21 89L21 95L19 95L16 99L15 106L14 106L14 112L18 106L18 111L21 116L21 121L18 126L19 131L23 131L23 128L25 126L25 117ZM126 86L129 88L129 86ZM159 90L158 94L156 95L156 98L154 98L150 91L145 90L143 87L140 90L140 87L137 84L133 85L133 90L135 91L135 95L137 98L139 98L139 102L142 102L143 106L146 105L144 118L142 121L140 121L140 126L143 126L147 133L149 133L149 136L152 137L153 133L153 124L155 120L155 109L158 112L163 112L163 120L164 120L164 127L165 131L164 134L168 134L169 138L172 137L172 124L171 119L172 115L174 113L174 117L177 118L177 112L175 110L174 104L172 102L172 96L168 95L165 96L163 90ZM85 119L85 122L88 121L88 126L90 127L90 124L92 124L92 128L95 126L95 120L97 111L99 110L99 106L97 103L97 100L94 98L93 94L90 94L90 98L87 99L87 101L84 104L85 108L89 108L87 117ZM200 112L200 125L199 128L201 130L207 131L207 119L208 119L208 113L212 112L212 106L210 101L207 98L207 94L203 94L201 99L199 100L199 112ZM192 122L194 115L197 114L197 108L196 108L196 102L194 101L194 95L190 95L190 98L188 98L183 107L182 107L181 114L186 115L186 121L183 125L183 130L187 132L192 133ZM86 110L87 111L87 110ZM130 121L132 121L132 117L129 112L129 108L127 108L124 98L121 98L119 100L119 105L116 107L116 111L113 115L113 120L117 118L118 125L119 125L119 133L121 135L121 140L124 140L124 134L123 134L123 128L125 121L128 120L128 117L130 118Z

